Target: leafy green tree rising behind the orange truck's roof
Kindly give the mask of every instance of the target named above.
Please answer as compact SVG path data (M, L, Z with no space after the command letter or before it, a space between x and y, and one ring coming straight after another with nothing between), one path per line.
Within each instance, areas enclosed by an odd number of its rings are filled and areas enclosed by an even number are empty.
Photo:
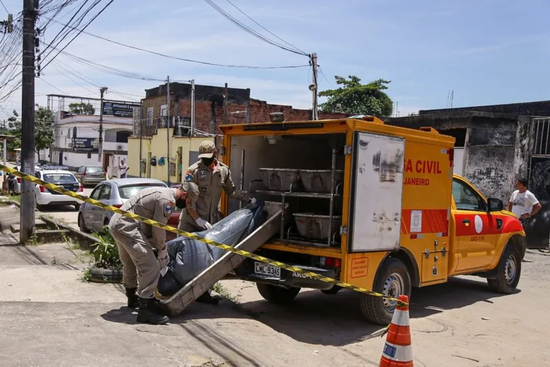
M319 92L320 97L328 97L320 108L323 112L344 112L353 115L371 115L386 117L393 112L393 102L384 92L387 84L384 79L378 79L368 84L361 84L361 79L350 75L349 79L334 76L336 84L342 85L336 90Z

